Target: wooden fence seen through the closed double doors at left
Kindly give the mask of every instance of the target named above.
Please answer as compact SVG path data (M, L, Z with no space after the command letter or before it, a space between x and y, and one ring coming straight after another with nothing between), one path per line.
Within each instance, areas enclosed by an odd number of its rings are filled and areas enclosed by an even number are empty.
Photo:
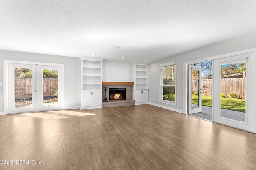
M58 88L58 78L44 78L44 97L54 96ZM27 99L32 97L32 87L31 78L15 78L15 99Z

